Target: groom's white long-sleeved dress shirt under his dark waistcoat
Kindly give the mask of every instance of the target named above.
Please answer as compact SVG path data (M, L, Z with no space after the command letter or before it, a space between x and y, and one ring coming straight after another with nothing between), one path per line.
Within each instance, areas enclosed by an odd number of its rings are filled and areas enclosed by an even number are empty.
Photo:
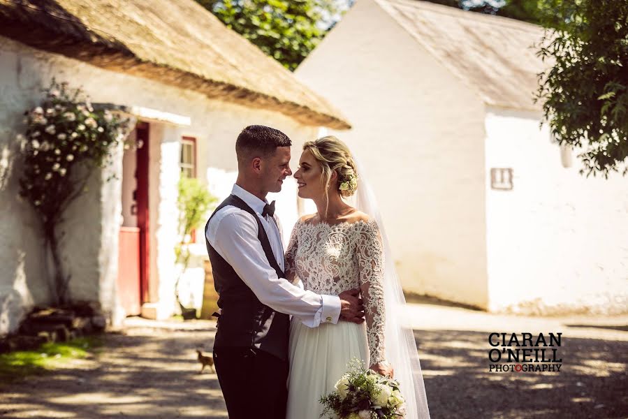
M233 185L231 193L256 212L270 241L272 253L284 270L284 247L277 224L270 216L261 215L266 202L238 185ZM253 216L231 205L214 214L205 231L205 237L214 250L233 267L262 304L299 318L309 328L316 328L320 323L337 323L340 298L305 291L287 279L277 277L257 234L258 224Z

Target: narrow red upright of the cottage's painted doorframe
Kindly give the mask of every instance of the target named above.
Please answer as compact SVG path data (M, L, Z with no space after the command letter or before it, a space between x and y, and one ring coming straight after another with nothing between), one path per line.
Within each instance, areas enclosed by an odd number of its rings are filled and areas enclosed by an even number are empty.
M149 216L148 216L148 186L149 186L149 124L136 124L137 141L142 147L137 151L137 196L138 228L140 228L140 304L150 301L148 290L149 279Z

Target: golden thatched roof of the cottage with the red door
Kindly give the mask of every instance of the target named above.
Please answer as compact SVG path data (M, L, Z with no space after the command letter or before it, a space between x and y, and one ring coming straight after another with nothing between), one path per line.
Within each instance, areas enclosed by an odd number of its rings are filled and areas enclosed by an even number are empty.
M324 98L193 0L0 0L0 35L302 124L350 128Z

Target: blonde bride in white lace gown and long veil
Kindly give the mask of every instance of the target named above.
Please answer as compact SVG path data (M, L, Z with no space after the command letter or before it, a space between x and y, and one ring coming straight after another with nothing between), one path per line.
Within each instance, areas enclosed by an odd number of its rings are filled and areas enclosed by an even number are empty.
M406 418L430 417L414 336L399 323L404 297L361 171L344 142L328 136L305 143L294 174L298 196L314 200L317 212L293 228L286 277L320 294L359 287L366 322L307 328L293 319L287 419L320 418L319 398L335 390L353 358L381 375L395 375L406 398ZM343 198L356 191L352 207Z

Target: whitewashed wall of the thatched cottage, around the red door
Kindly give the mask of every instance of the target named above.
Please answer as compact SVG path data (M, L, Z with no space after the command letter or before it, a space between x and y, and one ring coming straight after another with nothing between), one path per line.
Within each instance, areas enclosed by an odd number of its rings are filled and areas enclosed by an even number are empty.
M205 179L207 168L237 168L235 138L244 126L279 128L297 145L316 134L316 128L302 126L277 112L210 100L194 91L105 71L0 37L0 334L14 330L32 304L49 299L38 221L29 205L17 198L20 168L14 159L14 139L22 129L22 112L41 100L41 89L52 77L68 81L72 87L82 86L94 102L140 106L191 118L191 126L150 125L149 295L159 303L161 317L174 309L174 211L182 135L197 138L198 176ZM118 157L111 169L121 176L122 152ZM122 186L119 180L104 184L106 175L95 175L89 193L68 212L63 253L73 275L72 295L100 299L112 317L119 317L115 278ZM288 204L282 204L279 211L295 212L295 200L292 206L290 201L286 199ZM202 240L203 234L197 237Z

